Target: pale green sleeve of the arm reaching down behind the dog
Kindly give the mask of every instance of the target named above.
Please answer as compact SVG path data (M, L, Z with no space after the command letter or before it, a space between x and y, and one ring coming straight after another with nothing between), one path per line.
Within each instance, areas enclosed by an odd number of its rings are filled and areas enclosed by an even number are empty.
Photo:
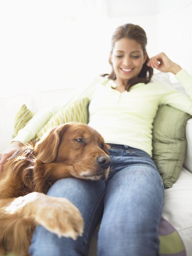
M73 103L77 100L82 98L92 98L94 91L96 90L96 86L98 82L102 81L102 77L97 77L91 84L83 89L78 89L75 95L72 95L65 103L57 104L52 106L51 108L44 108L39 110L33 118L26 124L26 126L21 129L17 136L14 137L11 142L13 141L20 141L22 143L28 143L32 140L36 133L40 131L40 129L48 122L48 120L57 113L61 108L65 108L65 106Z

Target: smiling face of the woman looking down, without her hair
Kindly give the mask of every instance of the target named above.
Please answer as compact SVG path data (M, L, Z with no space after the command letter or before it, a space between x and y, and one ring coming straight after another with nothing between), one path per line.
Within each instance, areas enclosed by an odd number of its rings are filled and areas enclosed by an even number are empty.
M111 54L113 69L119 82L137 77L146 60L146 54L143 54L141 45L128 38L122 38L115 43Z

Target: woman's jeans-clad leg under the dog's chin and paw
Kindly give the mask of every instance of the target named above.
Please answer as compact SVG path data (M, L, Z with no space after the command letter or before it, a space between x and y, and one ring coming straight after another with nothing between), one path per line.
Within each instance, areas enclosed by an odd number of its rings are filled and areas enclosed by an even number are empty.
M34 256L87 255L88 243L103 212L105 183L67 178L55 182L48 191L52 197L65 197L80 210L84 220L83 236L76 241L58 238L41 226L33 234L29 253Z

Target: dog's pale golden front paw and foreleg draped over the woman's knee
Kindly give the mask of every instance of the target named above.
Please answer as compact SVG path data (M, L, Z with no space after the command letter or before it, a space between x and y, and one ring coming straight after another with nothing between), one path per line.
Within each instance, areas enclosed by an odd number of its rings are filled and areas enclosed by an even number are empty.
M16 198L6 211L8 214L17 213L20 218L35 225L42 225L58 237L76 239L83 231L83 220L79 210L65 198L33 192Z

